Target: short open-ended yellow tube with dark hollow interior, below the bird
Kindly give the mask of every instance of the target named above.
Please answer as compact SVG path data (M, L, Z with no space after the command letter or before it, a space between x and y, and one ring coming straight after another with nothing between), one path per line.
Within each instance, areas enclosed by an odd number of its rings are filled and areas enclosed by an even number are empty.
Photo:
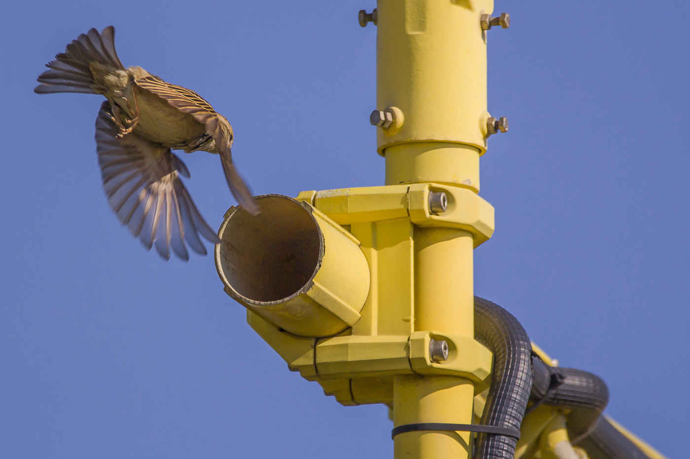
M258 216L235 208L215 260L225 291L297 336L333 336L359 320L369 269L359 241L307 203L257 196Z

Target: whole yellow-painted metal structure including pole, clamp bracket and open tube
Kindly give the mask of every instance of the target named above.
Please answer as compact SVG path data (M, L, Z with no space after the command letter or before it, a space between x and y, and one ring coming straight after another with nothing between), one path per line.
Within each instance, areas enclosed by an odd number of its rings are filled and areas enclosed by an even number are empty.
M377 128L385 186L273 196L297 207L262 203L257 217L233 207L221 227L219 275L255 332L340 404L388 405L396 427L479 422L486 402L492 356L473 339L473 249L494 230L477 196L490 116L480 17L492 10L493 0L378 0L376 109L395 114ZM430 210L431 192L446 194L444 212ZM447 360L431 360L432 339L446 341ZM525 416L515 458L577 452L567 415ZM412 431L394 451L467 459L471 445L469 432Z

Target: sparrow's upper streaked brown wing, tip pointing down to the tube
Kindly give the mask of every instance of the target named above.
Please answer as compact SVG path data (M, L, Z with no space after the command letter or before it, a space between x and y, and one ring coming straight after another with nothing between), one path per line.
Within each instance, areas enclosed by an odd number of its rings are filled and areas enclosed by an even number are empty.
M182 88L178 85L170 84L159 79L157 76L145 76L135 80L139 88L156 94L161 99L164 99L172 107L177 108L181 112L194 116L194 119L206 126L206 131L213 137L218 152L220 154L221 164L225 172L225 178L230 186L230 191L237 199L239 205L242 205L251 214L258 214L259 207L257 206L251 192L246 183L239 176L235 165L233 165L233 156L230 152L230 141L232 141L232 132L226 134L219 125L219 115L210 103L196 92ZM227 139L227 136L230 139Z

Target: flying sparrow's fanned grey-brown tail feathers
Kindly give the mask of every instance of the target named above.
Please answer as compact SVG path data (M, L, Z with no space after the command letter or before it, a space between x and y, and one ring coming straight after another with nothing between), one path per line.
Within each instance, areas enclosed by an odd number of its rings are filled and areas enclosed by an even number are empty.
M89 65L92 62L113 70L124 70L115 52L115 28L112 26L106 27L100 34L98 30L91 29L68 44L65 52L57 54L54 61L46 64L49 70L38 77L37 81L41 84L34 88L34 92L99 94Z

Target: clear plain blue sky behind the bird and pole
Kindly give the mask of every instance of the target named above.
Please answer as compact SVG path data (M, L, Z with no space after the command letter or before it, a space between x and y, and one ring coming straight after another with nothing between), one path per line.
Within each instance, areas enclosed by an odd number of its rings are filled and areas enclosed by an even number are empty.
M524 4L528 3L528 4ZM368 114L375 40L355 1L12 2L0 17L0 456L392 457L385 407L341 407L246 325L213 258L161 261L119 225L93 140L99 96L32 92L91 27L125 65L203 95L256 194L382 185ZM669 458L690 409L687 2L507 2L489 39L482 156L496 210L475 292L561 365L607 381L607 413ZM213 227L235 203L185 156Z

